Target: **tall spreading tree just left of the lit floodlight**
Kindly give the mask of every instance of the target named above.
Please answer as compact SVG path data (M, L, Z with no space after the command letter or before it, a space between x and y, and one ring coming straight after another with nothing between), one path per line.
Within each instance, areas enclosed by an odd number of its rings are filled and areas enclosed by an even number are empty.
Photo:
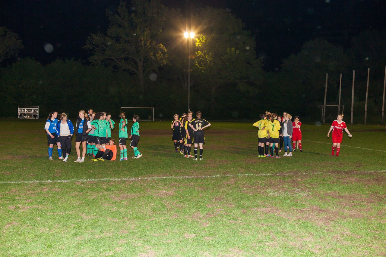
M142 92L144 77L166 64L163 29L170 15L159 0L133 0L130 11L121 2L117 13L107 10L110 27L106 34L90 34L85 49L93 52L93 64L105 62L137 75Z

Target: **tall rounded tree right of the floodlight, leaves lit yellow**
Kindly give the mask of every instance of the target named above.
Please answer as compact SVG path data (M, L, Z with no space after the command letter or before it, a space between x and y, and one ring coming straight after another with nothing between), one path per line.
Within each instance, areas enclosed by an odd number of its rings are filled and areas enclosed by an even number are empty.
M202 8L195 17L201 21L196 38L194 66L201 83L210 87L211 114L215 113L219 86L247 87L259 80L261 60L256 59L255 40L241 20L223 9Z

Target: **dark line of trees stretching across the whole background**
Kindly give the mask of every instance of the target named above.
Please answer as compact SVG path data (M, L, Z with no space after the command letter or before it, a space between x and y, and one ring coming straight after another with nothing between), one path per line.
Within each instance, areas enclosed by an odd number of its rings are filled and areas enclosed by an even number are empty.
M154 107L156 117L166 118L186 112L188 40L183 31L192 28L196 31L189 55L193 111L200 109L218 119L256 119L262 111L289 111L317 120L327 72L328 104L337 104L342 73L342 104L349 110L353 69L359 111L370 67L377 87L370 93L370 113L378 122L385 31L362 32L352 39L350 49L310 40L284 59L279 71L264 72L264 60L256 55L259 40L225 10L201 8L184 19L158 0L133 0L130 6L122 2L116 13L107 11L107 16L107 31L90 34L85 42L84 49L92 54L90 63L72 59L42 66L22 59L0 68L1 115L15 116L17 105L39 105L42 113L57 110L70 115L93 108L116 116L121 106ZM17 56L21 48L17 34L0 29L2 56Z

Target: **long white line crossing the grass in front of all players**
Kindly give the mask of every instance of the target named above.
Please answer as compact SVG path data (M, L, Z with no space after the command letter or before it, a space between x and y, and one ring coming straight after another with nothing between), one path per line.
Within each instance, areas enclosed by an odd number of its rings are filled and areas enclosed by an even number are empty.
M386 170L358 171L359 173L383 173ZM0 184L31 184L31 183L60 183L60 182L87 182L87 181L129 181L129 180L156 180L165 178L222 178L234 176L288 176L305 174L337 174L337 172L302 172L302 173L248 173L235 175L212 175L212 176L164 176L164 177L145 177L145 178L90 178L90 179L70 179L70 180L32 180L32 181L0 181ZM349 173L348 173L349 174Z

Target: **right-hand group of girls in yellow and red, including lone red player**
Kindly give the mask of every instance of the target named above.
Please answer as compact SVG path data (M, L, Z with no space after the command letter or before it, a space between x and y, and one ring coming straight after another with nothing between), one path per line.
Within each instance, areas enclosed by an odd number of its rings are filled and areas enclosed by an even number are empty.
M349 137L352 136L342 119L343 114L339 114L337 120L332 123L330 131L328 131L327 134L327 137L329 137L330 132L332 131L332 156L334 156L335 148L336 156L339 156L340 143L342 143L342 130L345 129ZM289 113L284 112L283 116L278 116L276 113L271 114L270 112L266 112L265 114L260 114L260 120L252 126L257 127L258 130L259 157L280 158L279 152L281 152L283 144L283 156L292 156L292 152L295 152L296 149L303 152L301 145L301 122L299 121L299 116L295 116L295 121L292 121L292 116Z

